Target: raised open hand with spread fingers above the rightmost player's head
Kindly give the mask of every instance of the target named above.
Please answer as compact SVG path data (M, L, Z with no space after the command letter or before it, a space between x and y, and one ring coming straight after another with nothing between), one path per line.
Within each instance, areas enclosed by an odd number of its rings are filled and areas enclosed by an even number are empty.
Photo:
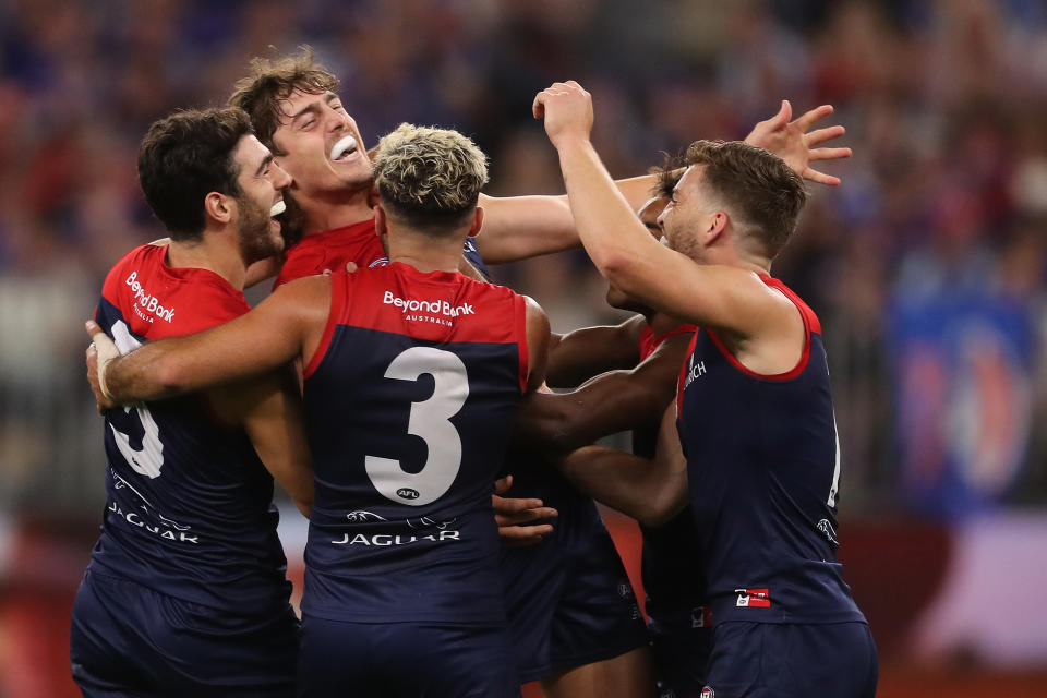
M851 148L815 147L826 141L839 139L845 133L844 128L827 127L808 133L815 123L831 115L832 111L831 105L822 105L815 107L795 121L790 121L793 117L793 107L787 99L783 99L782 108L778 113L756 124L745 137L745 142L779 156L804 179L835 186L840 183L839 177L820 172L811 168L810 163L851 157Z

